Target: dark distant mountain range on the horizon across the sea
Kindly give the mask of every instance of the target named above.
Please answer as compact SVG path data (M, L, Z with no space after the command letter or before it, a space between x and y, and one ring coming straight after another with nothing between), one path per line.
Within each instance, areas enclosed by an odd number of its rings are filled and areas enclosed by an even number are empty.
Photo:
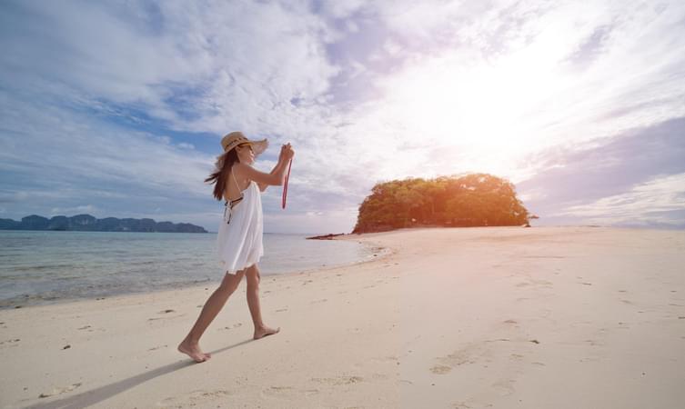
M153 219L96 219L90 214L55 216L48 219L37 214L22 218L21 222L0 219L0 230L60 230L79 232L159 232L159 233L207 233L203 227L189 223L159 222Z

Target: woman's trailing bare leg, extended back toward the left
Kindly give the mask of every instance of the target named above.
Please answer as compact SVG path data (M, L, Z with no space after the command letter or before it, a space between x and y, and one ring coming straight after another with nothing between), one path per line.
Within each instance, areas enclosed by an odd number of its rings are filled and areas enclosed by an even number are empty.
M200 316L197 317L197 321L190 332L186 335L186 338L178 344L178 351L187 354L195 362L204 362L211 357L211 354L205 354L200 350L200 337L207 330L207 326L214 320L214 318L219 314L221 308L226 304L228 297L236 291L240 280L242 280L243 275L245 275L245 270L237 272L237 274L226 274L221 285L214 291L209 298L207 303L202 307L202 312Z

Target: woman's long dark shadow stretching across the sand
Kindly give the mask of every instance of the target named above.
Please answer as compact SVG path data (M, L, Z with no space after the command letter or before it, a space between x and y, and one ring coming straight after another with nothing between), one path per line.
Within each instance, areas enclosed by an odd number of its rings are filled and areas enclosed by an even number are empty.
M248 339L243 342L237 343L237 344L232 344L228 345L225 348L217 349L217 351L212 351L210 354L214 356L214 354L219 354L222 353L228 349L235 348L237 346L240 346L242 344L247 344L250 342L253 342L253 339ZM169 374L171 372L177 371L179 369L186 368L188 366L194 365L196 362L193 360L186 360L182 362L176 362L174 364L168 364L165 366L161 366L159 368L153 369L151 371L147 371L143 374L137 374L136 376L131 376L130 378L122 379L121 381L115 382L113 384L106 384L103 386L100 386L99 388L96 389L91 389L90 391L84 391L80 394L75 394L74 396L68 396L63 399L58 399L56 401L49 401L45 403L40 403L40 404L33 404L31 406L25 406L27 409L52 409L52 408L81 408L81 407L86 407L90 406L91 404L97 404L99 402L102 402L106 399L109 399L110 397L116 395L116 394L121 394L122 392L125 392L128 389L131 389L134 386L137 386L139 384L143 384L150 379L154 379L157 376L161 376L163 374Z

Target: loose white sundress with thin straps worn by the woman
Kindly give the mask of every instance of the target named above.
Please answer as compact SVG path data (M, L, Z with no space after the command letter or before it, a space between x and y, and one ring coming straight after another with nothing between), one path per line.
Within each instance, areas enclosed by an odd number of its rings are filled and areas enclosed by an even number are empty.
M235 175L233 181L237 185ZM241 194L243 200L233 205L233 208L226 203L217 234L219 264L223 273L228 274L236 274L256 264L264 255L261 191L257 183L251 180Z

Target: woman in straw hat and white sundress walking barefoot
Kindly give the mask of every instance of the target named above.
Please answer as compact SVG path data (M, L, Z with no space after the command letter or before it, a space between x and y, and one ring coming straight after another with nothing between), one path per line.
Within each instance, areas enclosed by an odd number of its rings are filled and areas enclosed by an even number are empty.
M262 245L263 220L260 193L269 185L283 185L287 164L295 155L290 144L281 146L278 163L270 174L257 171L251 165L255 157L267 150L267 139L252 141L241 132L232 132L223 139L224 153L217 157L217 169L205 182L216 183L214 196L225 200L224 217L219 224L217 250L224 279L207 299L195 325L178 345L178 351L196 362L211 357L200 350L199 341L207 326L214 320L230 294L247 276L247 306L255 324L254 339L280 331L269 328L262 321L259 308L259 269L257 262L264 255Z

